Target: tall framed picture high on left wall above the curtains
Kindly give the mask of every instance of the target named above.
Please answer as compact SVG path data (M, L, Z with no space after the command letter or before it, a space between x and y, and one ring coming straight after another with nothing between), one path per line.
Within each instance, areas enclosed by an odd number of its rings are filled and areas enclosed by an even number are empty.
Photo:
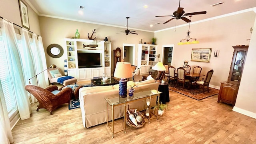
M28 7L22 0L19 0L19 6L20 6L21 24L23 27L29 30Z

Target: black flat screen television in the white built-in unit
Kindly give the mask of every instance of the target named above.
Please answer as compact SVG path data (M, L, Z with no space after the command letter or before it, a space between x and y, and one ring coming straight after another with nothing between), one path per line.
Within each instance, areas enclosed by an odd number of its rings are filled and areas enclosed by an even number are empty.
M97 68L100 65L100 53L77 53L78 68Z

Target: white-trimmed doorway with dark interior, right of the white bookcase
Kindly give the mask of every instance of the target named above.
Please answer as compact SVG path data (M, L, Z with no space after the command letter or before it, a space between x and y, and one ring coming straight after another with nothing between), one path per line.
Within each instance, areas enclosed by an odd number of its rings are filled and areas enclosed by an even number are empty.
M173 48L174 44L163 45L163 64L172 65Z

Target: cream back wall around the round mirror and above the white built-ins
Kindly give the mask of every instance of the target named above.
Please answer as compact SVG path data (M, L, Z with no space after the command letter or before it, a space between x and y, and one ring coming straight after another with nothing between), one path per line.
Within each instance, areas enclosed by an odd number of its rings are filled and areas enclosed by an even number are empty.
M92 30L96 29L96 33L92 36L92 38L96 37L96 40L103 40L105 37L108 37L108 41L112 41L111 43L111 58L113 61L113 50L119 47L123 50L123 44L136 44L136 52L138 51L138 46L140 39L143 38L143 42L150 42L151 38L154 36L153 32L144 32L135 30L138 35L129 34L126 36L124 33L120 33L120 31L124 31L126 28L117 28L112 26L103 26L98 24L89 24L84 22L75 22L70 20L63 20L57 18L48 18L44 16L40 16L40 30L42 32L44 49L46 52L47 46L50 44L59 44L62 48L65 48L64 38L72 38L78 29L80 33L81 39L88 39L92 34ZM132 30L132 29L130 29ZM123 57L122 57L123 58ZM64 59L66 59L65 54L60 58L52 58L48 56L46 53L46 62L47 65L56 64L56 66L60 67L64 70ZM137 58L136 58L137 59ZM135 64L137 61L135 62ZM113 63L112 63L112 73L113 73Z

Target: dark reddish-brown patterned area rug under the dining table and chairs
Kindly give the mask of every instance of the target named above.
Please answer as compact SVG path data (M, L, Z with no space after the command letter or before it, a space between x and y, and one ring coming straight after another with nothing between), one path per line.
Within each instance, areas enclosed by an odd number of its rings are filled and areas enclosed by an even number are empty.
M219 94L219 90L215 88L209 88L209 92L207 91L207 87L204 88L204 93L202 86L200 88L190 88L190 90L184 89L182 90L182 86L177 86L176 88L172 87L173 84L169 84L169 90L172 90L174 92L178 92L180 94L183 94L185 96L188 96L190 98L194 98L196 100L202 100L204 98L208 98L210 96L214 96L216 94Z

